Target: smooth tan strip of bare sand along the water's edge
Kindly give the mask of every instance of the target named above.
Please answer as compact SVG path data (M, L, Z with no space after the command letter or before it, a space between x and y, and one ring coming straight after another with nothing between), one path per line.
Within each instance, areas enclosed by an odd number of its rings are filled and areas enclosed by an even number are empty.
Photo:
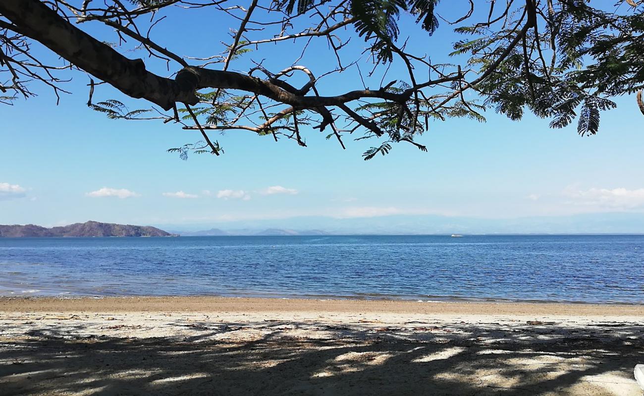
M260 298L213 296L0 296L0 312L388 312L510 316L644 317L644 305L511 301Z

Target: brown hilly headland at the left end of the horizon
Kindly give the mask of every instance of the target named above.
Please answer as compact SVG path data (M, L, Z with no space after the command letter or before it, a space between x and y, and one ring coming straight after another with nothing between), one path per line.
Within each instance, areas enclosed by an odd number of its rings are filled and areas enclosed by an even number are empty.
M149 226L99 223L91 221L52 228L45 228L33 224L0 225L0 237L21 238L43 236L173 236L173 234Z

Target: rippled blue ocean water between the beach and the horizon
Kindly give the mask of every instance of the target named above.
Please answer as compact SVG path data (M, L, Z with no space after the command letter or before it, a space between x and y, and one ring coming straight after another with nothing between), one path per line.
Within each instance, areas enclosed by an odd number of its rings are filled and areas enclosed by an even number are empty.
M0 295L644 303L644 236L0 238Z

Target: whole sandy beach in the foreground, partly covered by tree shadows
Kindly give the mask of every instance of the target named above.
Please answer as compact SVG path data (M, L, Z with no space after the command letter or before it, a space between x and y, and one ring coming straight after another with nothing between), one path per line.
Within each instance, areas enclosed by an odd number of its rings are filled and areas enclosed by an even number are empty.
M0 298L8 395L640 396L644 306Z

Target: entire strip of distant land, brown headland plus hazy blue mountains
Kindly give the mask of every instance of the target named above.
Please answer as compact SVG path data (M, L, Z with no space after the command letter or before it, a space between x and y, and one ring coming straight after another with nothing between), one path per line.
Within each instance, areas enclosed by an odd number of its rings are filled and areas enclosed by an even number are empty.
M38 225L0 225L0 237L17 236L325 236L413 234L644 234L644 213L607 212L571 216L469 218L457 216L392 215L372 218L325 216L157 227L99 222L47 229ZM212 228L215 226L216 228ZM168 232L162 229L169 230ZM201 229L202 231L193 231ZM176 230L176 231L170 231ZM323 231L321 231L323 230Z

